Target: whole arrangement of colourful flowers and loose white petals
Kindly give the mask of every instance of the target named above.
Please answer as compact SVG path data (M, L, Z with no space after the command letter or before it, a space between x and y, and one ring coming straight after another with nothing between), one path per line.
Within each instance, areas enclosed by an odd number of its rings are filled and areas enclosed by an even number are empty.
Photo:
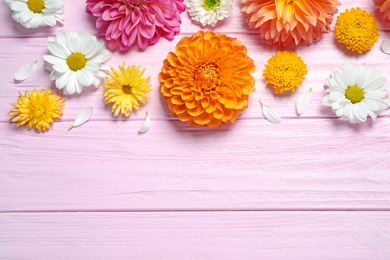
M26 28L54 26L63 23L62 0L4 0L13 11L12 18ZM389 19L389 1L376 0L377 7ZM140 103L145 104L151 85L143 77L140 66L119 66L119 70L105 68L103 63L112 56L112 50L126 51L134 45L140 49L156 44L160 37L172 40L179 32L180 14L186 6L183 0L86 0L86 10L97 18L97 39L86 31L66 33L57 31L49 37L49 54L43 58L45 68L51 71L63 94L81 93L84 86L99 87L103 83L106 103L113 103L115 116L130 116ZM337 13L337 0L265 1L242 0L241 12L250 28L259 32L269 44L311 43L319 40L322 32L330 31L333 15ZM188 0L191 18L202 26L215 26L230 15L232 0ZM379 37L374 16L360 8L352 8L337 18L335 37L348 49L362 53L370 49ZM106 43L106 46L105 46ZM385 47L386 48L386 47ZM15 76L23 80L33 71L36 62L24 66ZM234 122L248 107L249 94L254 92L255 71L253 59L236 38L223 33L199 31L183 37L164 60L158 76L160 92L172 114L189 125L220 127ZM108 71L108 72L105 72ZM263 76L272 84L275 93L294 91L307 74L307 66L293 52L280 51L265 65ZM332 72L326 80L326 95L322 99L341 120L351 123L373 120L390 105L386 80L380 70L355 67L347 62L344 69ZM298 98L297 111L305 110L311 89ZM61 118L64 100L51 91L36 89L20 94L9 113L17 126L47 131L53 119ZM260 102L263 114L271 122L280 117ZM90 110L81 113L73 126L85 122ZM149 117L147 117L148 120ZM147 128L147 127L146 127Z

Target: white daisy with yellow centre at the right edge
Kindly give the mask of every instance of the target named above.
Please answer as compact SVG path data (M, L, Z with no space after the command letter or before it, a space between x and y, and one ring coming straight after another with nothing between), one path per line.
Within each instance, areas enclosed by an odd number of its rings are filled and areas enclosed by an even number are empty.
M356 68L347 61L344 69L332 71L331 77L326 80L326 87L322 104L332 107L343 121L362 123L367 116L375 121L380 111L390 105L382 72L367 69L364 65Z

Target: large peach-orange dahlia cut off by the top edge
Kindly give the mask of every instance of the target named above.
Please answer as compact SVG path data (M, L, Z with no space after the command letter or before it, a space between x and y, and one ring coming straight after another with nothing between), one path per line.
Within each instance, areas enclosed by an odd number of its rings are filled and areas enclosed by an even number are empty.
M296 45L321 39L329 32L338 0L241 0L249 28L270 45Z

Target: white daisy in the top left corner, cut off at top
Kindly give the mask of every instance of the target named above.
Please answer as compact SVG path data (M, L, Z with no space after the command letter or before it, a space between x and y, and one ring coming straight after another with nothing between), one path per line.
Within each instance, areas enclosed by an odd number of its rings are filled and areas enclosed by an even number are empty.
M12 19L27 29L64 23L62 0L4 0L4 3L13 11Z

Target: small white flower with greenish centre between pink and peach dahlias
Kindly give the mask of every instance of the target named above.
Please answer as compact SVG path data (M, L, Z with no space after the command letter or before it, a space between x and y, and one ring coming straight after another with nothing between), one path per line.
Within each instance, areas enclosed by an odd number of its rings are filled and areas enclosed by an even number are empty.
M187 0L188 13L196 24L215 26L229 17L233 0Z

